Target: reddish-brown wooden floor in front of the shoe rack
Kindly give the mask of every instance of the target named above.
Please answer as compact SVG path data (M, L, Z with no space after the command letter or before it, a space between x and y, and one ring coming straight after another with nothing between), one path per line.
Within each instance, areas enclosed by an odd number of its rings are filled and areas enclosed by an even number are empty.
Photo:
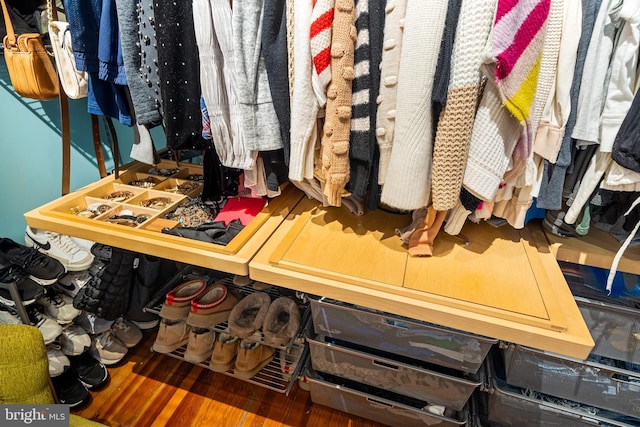
M311 402L297 384L289 396L152 352L155 329L116 367L109 384L72 412L109 426L382 427Z

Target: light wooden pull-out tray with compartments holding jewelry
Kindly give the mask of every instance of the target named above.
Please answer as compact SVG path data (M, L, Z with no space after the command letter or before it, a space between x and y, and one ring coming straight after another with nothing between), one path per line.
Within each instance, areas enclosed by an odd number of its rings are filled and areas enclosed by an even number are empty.
M249 260L302 193L286 186L280 196L265 199L262 211L226 246L162 233L163 228L198 225L190 223L189 217L169 219L167 214L200 195L203 185L200 165L135 162L122 168L117 179L109 175L25 213L25 219L33 228L247 275Z

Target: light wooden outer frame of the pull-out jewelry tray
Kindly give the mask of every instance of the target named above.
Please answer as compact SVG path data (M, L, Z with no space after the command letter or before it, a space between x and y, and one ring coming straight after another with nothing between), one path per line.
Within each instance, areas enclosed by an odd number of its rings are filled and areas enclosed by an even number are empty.
M166 162L166 164L159 165L158 168L165 166L176 167L176 164ZM129 172L140 167L140 164L134 163ZM149 168L148 165L146 167ZM185 167L193 169L198 166L185 164ZM71 207L78 203L86 203L84 200L91 195L100 194L101 191L107 191L114 185L120 185L122 177L126 176L127 171L121 172L119 180L110 175L33 209L25 213L26 222L34 228L231 274L247 275L249 274L249 260L253 258L271 233L302 198L302 193L299 190L291 185L286 186L282 194L271 200L226 246L161 233L162 227L156 226L156 223L161 222L164 225L166 220L160 214L152 220L154 223L149 226L131 228L106 223L98 219L81 218L70 213Z

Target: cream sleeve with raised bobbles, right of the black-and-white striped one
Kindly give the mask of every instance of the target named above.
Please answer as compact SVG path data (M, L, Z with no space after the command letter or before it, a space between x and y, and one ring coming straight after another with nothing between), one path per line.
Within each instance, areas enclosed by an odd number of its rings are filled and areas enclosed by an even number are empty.
M382 62L380 63L380 91L377 97L376 138L380 149L378 183L384 184L393 147L396 120L398 70L402 52L404 16L408 0L389 0L385 8Z

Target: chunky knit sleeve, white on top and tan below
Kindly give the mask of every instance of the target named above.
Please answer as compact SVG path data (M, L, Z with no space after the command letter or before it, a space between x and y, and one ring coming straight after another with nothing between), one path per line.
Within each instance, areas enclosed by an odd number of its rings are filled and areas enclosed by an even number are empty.
M471 129L482 88L482 52L491 31L496 0L463 0L453 46L447 103L440 115L433 152L433 205L453 208L460 196Z

